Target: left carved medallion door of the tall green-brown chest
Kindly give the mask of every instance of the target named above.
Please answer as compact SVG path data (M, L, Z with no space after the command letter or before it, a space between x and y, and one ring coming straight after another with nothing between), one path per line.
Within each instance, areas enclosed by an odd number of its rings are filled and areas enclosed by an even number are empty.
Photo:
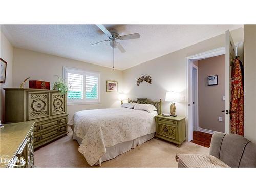
M27 120L49 116L49 93L27 92Z

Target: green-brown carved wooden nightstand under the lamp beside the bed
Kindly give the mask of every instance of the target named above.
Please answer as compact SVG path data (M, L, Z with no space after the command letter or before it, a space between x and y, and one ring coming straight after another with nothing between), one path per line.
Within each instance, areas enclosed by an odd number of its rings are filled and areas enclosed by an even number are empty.
M156 137L173 142L177 147L186 140L185 117L156 115Z

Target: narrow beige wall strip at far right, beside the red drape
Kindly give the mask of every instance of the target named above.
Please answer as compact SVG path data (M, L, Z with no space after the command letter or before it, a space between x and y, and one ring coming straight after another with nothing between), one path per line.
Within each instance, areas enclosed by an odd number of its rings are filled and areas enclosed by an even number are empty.
M244 26L245 138L256 143L256 25Z

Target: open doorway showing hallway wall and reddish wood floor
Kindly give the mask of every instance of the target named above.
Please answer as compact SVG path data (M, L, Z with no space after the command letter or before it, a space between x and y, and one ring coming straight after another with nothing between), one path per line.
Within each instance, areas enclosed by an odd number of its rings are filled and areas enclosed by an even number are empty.
M214 80L208 80L214 79ZM199 99L200 98L200 99ZM225 133L225 54L193 61L193 140L209 147L211 136Z

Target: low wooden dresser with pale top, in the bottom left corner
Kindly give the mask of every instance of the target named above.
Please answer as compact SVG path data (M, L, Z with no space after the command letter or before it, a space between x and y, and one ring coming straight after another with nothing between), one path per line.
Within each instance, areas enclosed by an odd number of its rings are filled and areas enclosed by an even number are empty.
M35 121L10 123L0 130L0 167L34 167L34 124Z

